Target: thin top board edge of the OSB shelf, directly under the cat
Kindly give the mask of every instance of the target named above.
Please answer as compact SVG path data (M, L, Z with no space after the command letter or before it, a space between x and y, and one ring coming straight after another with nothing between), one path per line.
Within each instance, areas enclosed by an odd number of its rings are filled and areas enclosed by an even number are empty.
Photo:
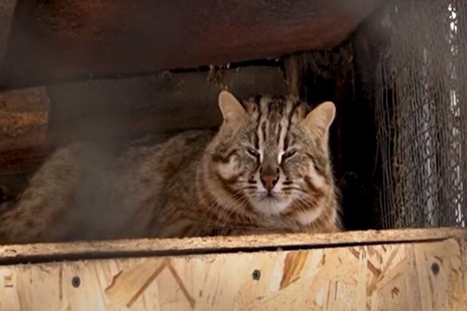
M114 241L0 245L0 263L47 261L60 258L108 258L200 252L232 252L270 248L313 248L326 245L430 242L461 239L466 231L455 228L367 230L326 234L266 234L242 237L136 239Z

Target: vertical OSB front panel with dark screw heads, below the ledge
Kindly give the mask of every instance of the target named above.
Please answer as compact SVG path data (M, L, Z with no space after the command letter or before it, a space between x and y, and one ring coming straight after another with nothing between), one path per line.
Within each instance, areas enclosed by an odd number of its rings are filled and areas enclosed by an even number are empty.
M0 266L0 310L455 311L463 286L447 239Z

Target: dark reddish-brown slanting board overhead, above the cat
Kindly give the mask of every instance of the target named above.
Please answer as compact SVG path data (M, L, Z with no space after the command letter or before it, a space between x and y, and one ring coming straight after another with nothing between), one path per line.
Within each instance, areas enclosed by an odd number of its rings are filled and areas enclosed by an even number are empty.
M352 33L379 2L19 1L0 84L222 65L326 49Z

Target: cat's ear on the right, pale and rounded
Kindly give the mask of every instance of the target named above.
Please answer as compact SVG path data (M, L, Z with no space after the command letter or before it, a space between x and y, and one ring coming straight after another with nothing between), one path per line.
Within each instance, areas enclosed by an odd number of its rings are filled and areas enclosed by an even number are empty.
M329 126L336 116L336 106L332 102L319 104L305 117L305 126L312 129L320 137L327 137Z

